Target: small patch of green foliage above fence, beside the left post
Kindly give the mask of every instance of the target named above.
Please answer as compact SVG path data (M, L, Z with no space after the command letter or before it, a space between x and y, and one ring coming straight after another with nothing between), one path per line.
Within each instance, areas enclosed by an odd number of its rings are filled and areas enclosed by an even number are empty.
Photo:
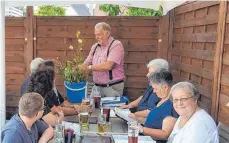
M44 5L39 6L37 16L65 16L66 9L62 6Z

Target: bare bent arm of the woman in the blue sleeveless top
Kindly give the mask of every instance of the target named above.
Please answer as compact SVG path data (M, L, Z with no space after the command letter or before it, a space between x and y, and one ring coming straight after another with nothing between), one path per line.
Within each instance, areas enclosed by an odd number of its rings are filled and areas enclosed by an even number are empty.
M168 139L173 127L176 123L176 118L166 117L162 122L162 129L151 129L144 127L143 133L145 135L151 136L153 139Z

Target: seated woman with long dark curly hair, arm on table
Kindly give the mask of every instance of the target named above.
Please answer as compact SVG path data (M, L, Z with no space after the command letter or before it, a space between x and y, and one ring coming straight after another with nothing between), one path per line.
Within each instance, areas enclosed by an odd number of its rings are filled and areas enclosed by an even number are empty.
M44 114L42 119L49 125L55 125L64 119L63 112L58 110L51 100L53 96L53 80L54 70L52 68L38 69L36 72L31 74L26 89L26 92L39 93L45 99Z

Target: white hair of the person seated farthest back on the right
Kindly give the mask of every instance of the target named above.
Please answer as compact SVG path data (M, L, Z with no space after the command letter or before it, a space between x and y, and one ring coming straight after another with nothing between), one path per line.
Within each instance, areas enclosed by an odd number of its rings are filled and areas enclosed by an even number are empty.
M147 68L154 67L156 70L166 69L169 70L169 63L164 59L154 59L150 61L147 65Z

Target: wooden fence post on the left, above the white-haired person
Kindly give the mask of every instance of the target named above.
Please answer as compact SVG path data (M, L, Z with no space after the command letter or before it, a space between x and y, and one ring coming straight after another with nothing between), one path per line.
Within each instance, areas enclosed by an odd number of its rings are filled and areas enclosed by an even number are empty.
M26 66L27 76L30 73L30 63L33 60L33 7L27 6L27 15L25 18L25 49L24 49L24 61Z

